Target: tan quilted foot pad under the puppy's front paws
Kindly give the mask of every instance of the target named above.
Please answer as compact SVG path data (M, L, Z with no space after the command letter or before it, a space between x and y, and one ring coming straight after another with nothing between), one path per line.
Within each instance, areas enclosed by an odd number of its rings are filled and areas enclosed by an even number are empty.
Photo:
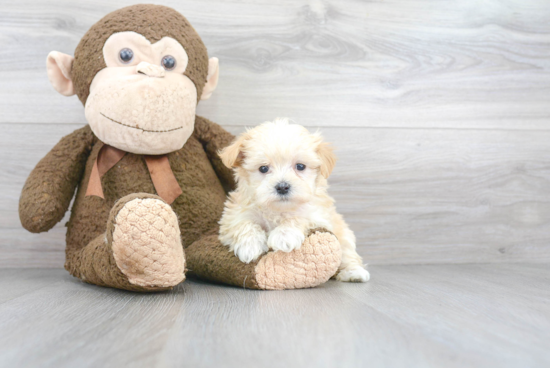
M334 235L315 232L300 249L270 252L256 265L260 289L283 290L318 286L338 270L342 251Z

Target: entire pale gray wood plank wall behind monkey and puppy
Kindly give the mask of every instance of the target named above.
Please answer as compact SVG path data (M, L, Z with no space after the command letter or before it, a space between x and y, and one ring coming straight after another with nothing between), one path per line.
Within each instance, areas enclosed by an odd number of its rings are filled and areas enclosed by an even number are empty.
M20 226L36 162L85 124L57 95L72 54L136 1L0 1L0 266L61 267L64 227ZM220 58L199 114L233 133L277 116L324 132L331 193L369 263L550 260L550 2L166 0Z

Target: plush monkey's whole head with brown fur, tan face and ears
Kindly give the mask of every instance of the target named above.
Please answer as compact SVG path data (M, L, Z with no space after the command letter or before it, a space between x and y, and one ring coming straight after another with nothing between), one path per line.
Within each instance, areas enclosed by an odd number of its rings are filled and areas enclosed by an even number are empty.
M158 155L183 147L197 103L218 82L218 59L180 13L160 5L114 11L84 35L74 58L52 51L48 77L78 95L94 134L121 150Z

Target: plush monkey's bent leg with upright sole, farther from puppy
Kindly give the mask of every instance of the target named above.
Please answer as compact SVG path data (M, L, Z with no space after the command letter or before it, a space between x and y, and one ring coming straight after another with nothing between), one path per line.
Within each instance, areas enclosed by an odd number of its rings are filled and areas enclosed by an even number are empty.
M91 284L133 291L170 289L185 279L176 214L155 195L123 197L111 209L106 233L69 252L65 268Z

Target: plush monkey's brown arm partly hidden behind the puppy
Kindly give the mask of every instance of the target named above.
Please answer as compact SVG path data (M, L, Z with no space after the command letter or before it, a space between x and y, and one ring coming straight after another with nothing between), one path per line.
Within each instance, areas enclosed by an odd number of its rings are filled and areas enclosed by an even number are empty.
M195 135L202 143L206 155L212 163L216 175L220 179L226 193L235 189L233 171L225 166L218 151L231 144L235 136L216 123L197 115L195 119Z

